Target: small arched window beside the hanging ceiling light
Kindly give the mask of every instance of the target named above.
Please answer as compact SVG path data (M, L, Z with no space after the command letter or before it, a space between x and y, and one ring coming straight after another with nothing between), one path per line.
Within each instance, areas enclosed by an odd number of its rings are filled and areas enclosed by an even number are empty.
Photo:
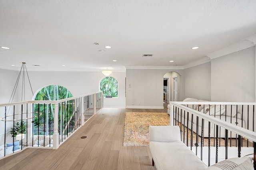
M118 82L114 77L105 77L100 81L100 91L105 98L118 98Z

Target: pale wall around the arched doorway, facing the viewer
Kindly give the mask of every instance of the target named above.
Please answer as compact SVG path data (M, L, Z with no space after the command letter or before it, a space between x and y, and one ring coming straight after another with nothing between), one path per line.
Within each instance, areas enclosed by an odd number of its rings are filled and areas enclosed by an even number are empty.
M126 69L126 108L163 108L163 78L172 70ZM179 73L182 82L183 70ZM181 89L181 88L180 88ZM182 98L182 90L178 93Z

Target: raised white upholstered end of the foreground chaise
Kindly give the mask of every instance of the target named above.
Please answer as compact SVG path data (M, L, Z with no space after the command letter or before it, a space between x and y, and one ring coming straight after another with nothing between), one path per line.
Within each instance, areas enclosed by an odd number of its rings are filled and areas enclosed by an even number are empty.
M149 126L149 141L174 142L180 140L179 126Z

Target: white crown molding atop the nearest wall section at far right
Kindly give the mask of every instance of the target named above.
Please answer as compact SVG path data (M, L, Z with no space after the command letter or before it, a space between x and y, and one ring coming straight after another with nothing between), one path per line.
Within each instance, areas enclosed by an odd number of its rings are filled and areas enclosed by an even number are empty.
M253 39L254 37L251 37L251 39ZM249 47L253 47L255 44L248 40L248 39L243 39L241 41L239 41L238 43L234 43L228 47L224 47L218 51L214 51L213 53L210 53L207 55L207 57L209 57L211 60L212 59L216 59L218 57L222 57L224 55L228 55L237 51L241 51L243 49L247 49Z

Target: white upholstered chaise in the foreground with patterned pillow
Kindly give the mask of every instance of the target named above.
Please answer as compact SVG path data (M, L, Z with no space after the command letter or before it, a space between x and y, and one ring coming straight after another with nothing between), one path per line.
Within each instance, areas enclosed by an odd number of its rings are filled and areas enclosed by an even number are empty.
M253 170L252 159L231 158L207 167L194 152L180 140L178 126L150 126L152 166L157 170ZM231 168L232 167L232 168Z

